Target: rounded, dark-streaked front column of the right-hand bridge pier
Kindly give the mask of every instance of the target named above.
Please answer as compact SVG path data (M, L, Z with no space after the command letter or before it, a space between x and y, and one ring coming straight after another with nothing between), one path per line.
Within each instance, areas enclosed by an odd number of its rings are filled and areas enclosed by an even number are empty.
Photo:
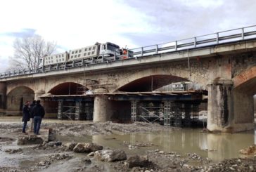
M207 129L229 131L232 119L232 85L229 79L215 79L208 85Z

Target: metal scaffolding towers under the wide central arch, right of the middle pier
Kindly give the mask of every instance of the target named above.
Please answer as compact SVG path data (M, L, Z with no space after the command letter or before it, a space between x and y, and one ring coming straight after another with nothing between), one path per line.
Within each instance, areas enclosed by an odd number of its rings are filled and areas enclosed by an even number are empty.
M131 121L162 122L164 126L191 126L198 119L198 105L191 102L139 102L132 101Z

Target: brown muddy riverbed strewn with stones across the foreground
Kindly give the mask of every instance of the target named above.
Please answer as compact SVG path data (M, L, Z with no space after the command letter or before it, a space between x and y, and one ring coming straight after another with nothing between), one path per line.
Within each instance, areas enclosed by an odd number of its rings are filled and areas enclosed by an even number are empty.
M208 157L193 152L166 151L160 142L125 140L126 134L177 132L179 128L166 128L159 124L136 122L115 124L112 122L92 123L84 121L43 121L42 128L52 128L56 140L63 144L43 143L38 145L17 145L21 133L21 122L0 122L0 171L256 171L256 157L240 157L215 162ZM103 135L103 136L99 136ZM105 135L105 136L104 136ZM124 135L117 136L117 135ZM103 139L104 138L104 139ZM158 138L156 138L158 139ZM173 138L168 138L172 140ZM103 150L122 148L127 157L148 156L147 166L129 168L127 160L98 161L91 153L75 153L65 147L65 143L96 142ZM56 143L56 142L53 142ZM193 144L193 143L191 143ZM244 147L246 148L246 147ZM205 152L217 152L205 149ZM235 151L235 150L234 150Z

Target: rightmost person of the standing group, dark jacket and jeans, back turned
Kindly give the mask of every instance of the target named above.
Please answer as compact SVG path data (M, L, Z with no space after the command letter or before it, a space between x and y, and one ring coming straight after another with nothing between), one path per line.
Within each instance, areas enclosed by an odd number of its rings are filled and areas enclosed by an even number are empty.
M36 105L32 109L32 116L34 117L34 134L39 135L41 119L44 118L44 114L44 107L41 106L40 100L37 100Z

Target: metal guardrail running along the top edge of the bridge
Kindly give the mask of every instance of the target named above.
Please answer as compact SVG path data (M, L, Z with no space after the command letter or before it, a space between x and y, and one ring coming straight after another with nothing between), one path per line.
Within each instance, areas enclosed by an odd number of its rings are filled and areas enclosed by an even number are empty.
M79 67L79 66L89 66L97 65L105 62L115 62L120 60L127 60L130 58L141 58L143 56L169 53L175 51L182 51L192 48L200 48L203 46L213 46L223 43L229 43L232 41L241 41L246 39L256 39L256 25L249 27L242 27L238 29L230 29L223 32L217 32L214 34L205 34L199 37L192 37L188 39L181 39L178 41L167 42L163 44L156 44L152 46L143 46L140 48L129 49L129 54L115 56L112 58L105 59L81 59L72 62L58 63L55 65L50 65L44 69L39 69L37 71L30 70L14 70L9 72L0 73L0 78L14 77L26 74L37 74L40 72L48 72L54 70L65 70L67 68ZM132 52L132 53L131 53Z

